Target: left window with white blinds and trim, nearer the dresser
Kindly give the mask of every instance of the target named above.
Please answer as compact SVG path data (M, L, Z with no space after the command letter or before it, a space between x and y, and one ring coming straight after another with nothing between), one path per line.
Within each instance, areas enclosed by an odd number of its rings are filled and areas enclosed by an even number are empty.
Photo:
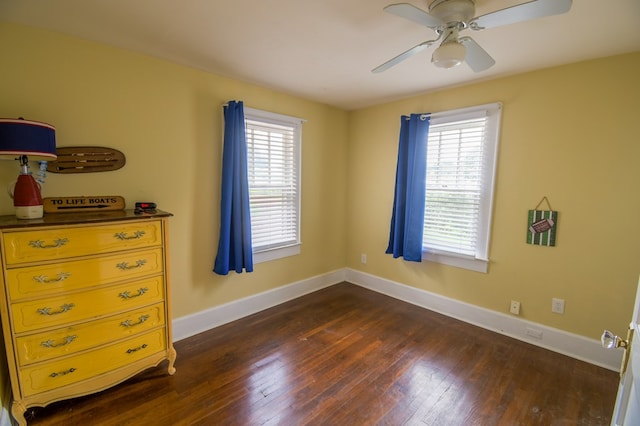
M299 254L302 120L244 110L253 260Z

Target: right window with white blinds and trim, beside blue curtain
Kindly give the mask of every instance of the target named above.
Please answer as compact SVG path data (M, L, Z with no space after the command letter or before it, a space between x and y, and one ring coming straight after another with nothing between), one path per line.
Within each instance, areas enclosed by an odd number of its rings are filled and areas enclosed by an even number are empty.
M431 115L423 259L486 272L500 104Z

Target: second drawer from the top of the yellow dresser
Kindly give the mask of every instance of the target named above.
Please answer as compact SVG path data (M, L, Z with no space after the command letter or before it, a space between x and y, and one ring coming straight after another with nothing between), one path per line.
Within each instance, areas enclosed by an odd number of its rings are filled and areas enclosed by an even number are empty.
M62 294L162 273L162 248L85 260L27 266L6 272L12 301Z

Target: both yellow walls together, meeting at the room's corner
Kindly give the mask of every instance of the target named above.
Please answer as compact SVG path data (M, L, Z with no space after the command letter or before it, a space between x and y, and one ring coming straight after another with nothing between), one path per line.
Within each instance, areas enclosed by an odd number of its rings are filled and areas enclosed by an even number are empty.
M155 201L171 220L175 318L345 266L596 338L622 333L640 272L640 54L443 90L346 112L105 45L0 24L0 116L57 127L59 146L120 149L125 168L50 174L44 196ZM294 115L303 127L302 254L252 274L211 272L217 245L221 105ZM384 254L399 117L504 105L488 274ZM0 184L17 174L0 164ZM555 248L526 245L528 209L560 211ZM12 214L0 191L0 214ZM368 263L360 263L360 254ZM566 300L552 314L552 297Z

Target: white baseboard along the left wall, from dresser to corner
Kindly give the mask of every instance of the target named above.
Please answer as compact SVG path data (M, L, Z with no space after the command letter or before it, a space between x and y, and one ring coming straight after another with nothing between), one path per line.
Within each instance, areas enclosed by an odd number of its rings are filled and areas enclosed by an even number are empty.
M203 331L255 314L305 294L338 284L345 280L346 269L318 275L284 285L224 305L196 312L173 320L173 340L178 341Z

